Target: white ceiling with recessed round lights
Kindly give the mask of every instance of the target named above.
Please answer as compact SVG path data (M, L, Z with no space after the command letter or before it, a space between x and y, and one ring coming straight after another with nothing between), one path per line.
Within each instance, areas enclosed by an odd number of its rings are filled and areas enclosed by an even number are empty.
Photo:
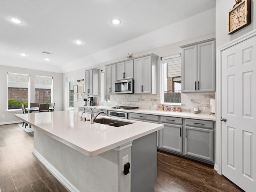
M215 0L0 0L0 65L65 72L76 60L214 7ZM120 25L111 24L115 18Z

